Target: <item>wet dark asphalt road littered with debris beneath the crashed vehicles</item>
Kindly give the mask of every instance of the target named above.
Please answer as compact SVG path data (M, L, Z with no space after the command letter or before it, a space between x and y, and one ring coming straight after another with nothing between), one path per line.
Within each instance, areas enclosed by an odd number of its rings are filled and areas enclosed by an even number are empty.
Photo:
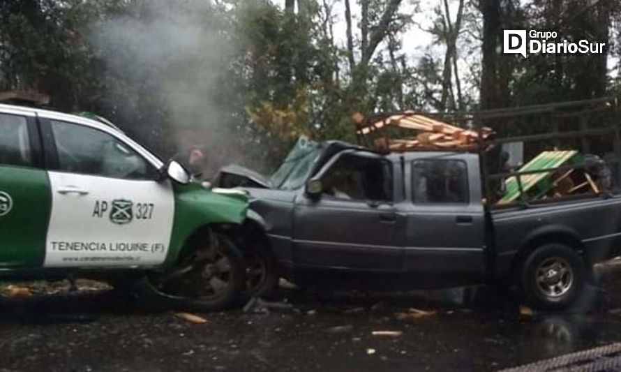
M113 292L1 303L0 371L494 371L621 341L621 275L567 313L505 293L285 292L297 311L147 312ZM408 308L436 311L403 318ZM399 331L401 336L374 336Z

